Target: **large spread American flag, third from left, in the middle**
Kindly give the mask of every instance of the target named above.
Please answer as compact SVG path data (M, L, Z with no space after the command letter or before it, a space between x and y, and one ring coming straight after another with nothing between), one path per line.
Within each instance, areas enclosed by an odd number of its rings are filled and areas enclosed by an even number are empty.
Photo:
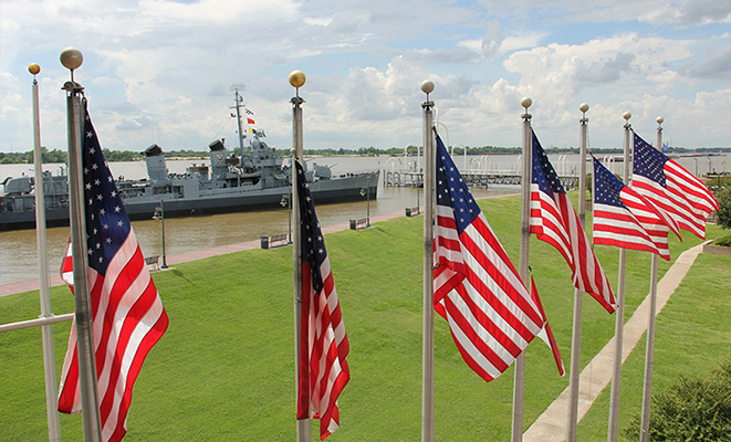
M485 381L510 367L544 317L437 137L435 311Z

